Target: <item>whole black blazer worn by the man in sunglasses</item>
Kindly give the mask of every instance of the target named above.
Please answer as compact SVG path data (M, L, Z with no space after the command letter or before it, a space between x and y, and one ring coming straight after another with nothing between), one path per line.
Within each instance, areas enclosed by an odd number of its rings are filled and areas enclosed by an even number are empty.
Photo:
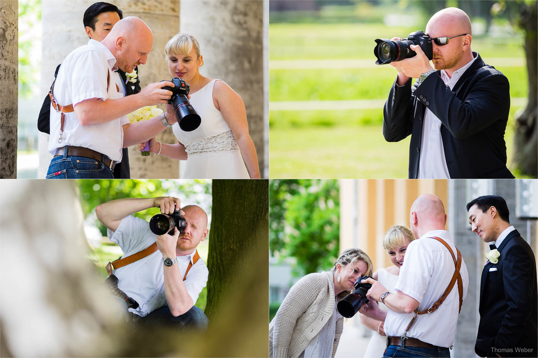
M452 89L441 71L399 87L394 81L383 112L383 136L399 142L411 135L409 178L419 175L422 125L426 107L441 121L444 156L451 179L514 178L506 167L504 134L510 109L508 79L476 60Z

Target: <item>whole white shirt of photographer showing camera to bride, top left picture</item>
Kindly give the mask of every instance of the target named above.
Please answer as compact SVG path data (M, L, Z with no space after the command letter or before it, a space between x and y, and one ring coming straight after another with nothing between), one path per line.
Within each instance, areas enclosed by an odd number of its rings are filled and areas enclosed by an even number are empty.
M54 84L54 98L60 105L75 106L90 98L117 99L125 95L116 90L115 83L121 84L121 77L112 68L116 58L101 42L89 40L87 45L76 48L63 60ZM107 90L107 71L110 85ZM121 85L118 85L122 89ZM123 87L124 89L125 87ZM65 114L62 142L60 137L60 113L51 104L51 136L48 151L54 154L56 148L65 145L93 149L120 162L122 159L123 128L129 123L127 116L97 125L82 126L75 112Z

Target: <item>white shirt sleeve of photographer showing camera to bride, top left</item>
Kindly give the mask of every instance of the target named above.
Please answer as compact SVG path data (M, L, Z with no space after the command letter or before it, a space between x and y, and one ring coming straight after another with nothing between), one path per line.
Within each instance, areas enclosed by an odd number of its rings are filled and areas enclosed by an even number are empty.
M108 98L108 64L97 49L74 56L67 70L67 85L73 106L90 98Z

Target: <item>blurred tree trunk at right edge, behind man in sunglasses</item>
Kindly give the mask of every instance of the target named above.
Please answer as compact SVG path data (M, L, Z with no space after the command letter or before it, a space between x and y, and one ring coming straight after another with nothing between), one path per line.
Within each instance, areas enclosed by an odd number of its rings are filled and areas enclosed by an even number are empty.
M537 3L521 5L520 26L525 30L525 57L529 78L528 103L525 110L516 118L514 134L513 162L521 174L538 177L538 77L537 67Z

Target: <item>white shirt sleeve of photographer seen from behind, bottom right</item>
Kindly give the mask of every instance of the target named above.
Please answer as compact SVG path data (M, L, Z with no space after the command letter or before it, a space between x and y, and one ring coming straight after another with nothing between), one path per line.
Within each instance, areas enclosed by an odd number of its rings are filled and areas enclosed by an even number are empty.
M400 268L400 275L394 289L422 302L430 281L432 260L433 258L420 240L411 242L407 246L404 265Z

